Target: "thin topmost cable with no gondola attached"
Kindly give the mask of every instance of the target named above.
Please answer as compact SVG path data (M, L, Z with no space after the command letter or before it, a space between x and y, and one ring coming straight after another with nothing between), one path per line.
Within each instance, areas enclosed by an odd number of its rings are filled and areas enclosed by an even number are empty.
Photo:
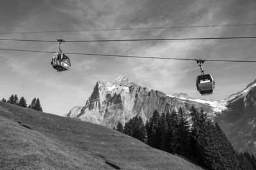
M117 29L86 29L86 30L67 30L67 31L30 31L30 32L0 32L0 34L34 34L34 33L54 33L54 32L93 32L93 31L127 31L127 30L147 30L147 29L182 29L199 27L234 27L248 26L256 24L227 24L227 25L190 25L177 27L138 27L138 28L117 28Z

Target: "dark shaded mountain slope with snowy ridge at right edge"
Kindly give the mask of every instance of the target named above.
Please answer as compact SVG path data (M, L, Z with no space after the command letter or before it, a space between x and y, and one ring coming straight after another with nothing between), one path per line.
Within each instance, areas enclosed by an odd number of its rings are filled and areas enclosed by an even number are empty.
M256 81L229 97L227 110L214 120L234 148L256 154Z

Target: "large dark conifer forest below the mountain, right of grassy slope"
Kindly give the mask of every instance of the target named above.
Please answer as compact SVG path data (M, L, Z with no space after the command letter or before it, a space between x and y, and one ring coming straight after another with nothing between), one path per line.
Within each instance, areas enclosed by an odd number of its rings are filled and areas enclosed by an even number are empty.
M146 124L140 116L124 127L114 128L149 146L180 155L206 169L256 169L256 159L248 152L238 153L217 123L204 110L191 107L188 120L182 108L172 113L154 111Z

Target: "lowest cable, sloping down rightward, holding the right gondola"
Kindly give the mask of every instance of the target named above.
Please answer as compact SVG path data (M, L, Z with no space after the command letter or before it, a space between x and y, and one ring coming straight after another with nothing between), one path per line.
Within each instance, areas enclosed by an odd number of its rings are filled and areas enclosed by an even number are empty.
M16 52L36 52L36 53L55 53L49 51L39 51L39 50L19 50L19 49L8 49L0 48L0 50L6 51L16 51ZM127 58L141 58L141 59L166 59L166 60L198 60L198 59L184 59L184 58L169 58L169 57L147 57L147 56L137 56L137 55L111 55L111 54L97 54L97 53L73 53L67 52L66 54L72 55L93 55L93 56L105 56L105 57L127 57ZM204 61L211 62L256 62L256 60L214 60L214 59L204 59Z

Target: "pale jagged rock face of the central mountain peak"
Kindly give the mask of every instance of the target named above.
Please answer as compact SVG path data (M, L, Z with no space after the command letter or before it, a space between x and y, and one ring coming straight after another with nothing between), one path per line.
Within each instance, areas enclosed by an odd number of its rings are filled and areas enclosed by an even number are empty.
M178 94L176 94L178 95ZM180 97L186 94L180 94ZM167 113L178 110L179 106L189 113L191 106L203 107L208 113L212 113L212 107L207 103L197 103L184 98L166 96L163 92L148 90L146 87L129 82L128 78L119 76L111 82L98 81L92 95L86 101L81 110L74 110L68 117L78 117L81 120L95 124L114 127L121 122L123 125L130 118L140 115L145 122L152 116L154 110L159 113Z

